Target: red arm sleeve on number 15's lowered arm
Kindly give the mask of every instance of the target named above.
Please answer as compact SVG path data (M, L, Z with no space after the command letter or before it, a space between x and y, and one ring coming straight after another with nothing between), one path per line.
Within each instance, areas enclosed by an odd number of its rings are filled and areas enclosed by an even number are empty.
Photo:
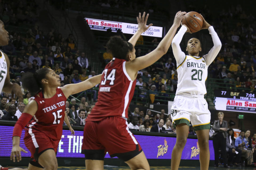
M28 113L22 113L21 117L19 117L13 129L13 137L18 136L21 137L21 132L27 123L32 119L32 115Z

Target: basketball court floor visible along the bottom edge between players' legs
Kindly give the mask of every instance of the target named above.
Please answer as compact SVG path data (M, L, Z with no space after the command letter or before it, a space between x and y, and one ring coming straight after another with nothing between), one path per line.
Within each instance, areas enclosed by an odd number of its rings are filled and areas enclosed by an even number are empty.
M12 167L10 167L12 168ZM20 167L20 168L26 168L26 167ZM150 167L151 170L171 170L171 167L160 167L160 166L151 166ZM227 169L227 168L223 168L223 167L218 167L218 168L215 168L215 167L209 167L209 170L224 170L224 169ZM256 167L233 167L233 168L230 168L232 170L256 170ZM58 170L86 170L85 167L75 167L75 166L61 166L61 167L58 167ZM117 167L117 166L108 166L108 165L105 165L104 166L104 170L130 170L129 167L127 166L121 166L121 167ZM200 170L200 167L179 167L179 170Z

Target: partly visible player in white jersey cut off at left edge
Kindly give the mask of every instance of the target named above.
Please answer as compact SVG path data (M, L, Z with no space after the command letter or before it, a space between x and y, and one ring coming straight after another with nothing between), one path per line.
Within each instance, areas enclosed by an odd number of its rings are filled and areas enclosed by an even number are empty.
M0 46L7 45L9 42L9 33L5 30L3 22L0 20ZM8 56L0 51L0 93L11 93L12 98L19 97L19 101L23 101L21 87L17 83L10 82L10 61Z

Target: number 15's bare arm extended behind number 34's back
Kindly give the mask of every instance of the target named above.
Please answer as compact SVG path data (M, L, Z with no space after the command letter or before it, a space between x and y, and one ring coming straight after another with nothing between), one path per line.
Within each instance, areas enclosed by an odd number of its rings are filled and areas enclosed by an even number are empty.
M101 75L93 76L83 82L76 83L76 84L67 84L63 87L61 87L61 90L63 91L64 95L66 97L69 97L72 94L77 94L79 92L85 91L89 88L92 88L99 84L101 82Z

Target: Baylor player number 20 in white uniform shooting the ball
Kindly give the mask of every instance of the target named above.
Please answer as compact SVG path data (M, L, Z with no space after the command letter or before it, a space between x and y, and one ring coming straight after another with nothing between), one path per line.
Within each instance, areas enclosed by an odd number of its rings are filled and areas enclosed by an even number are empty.
M208 66L221 49L221 41L213 27L203 18L202 29L208 29L213 39L213 48L208 54L199 57L202 51L201 42L197 38L191 38L187 42L185 55L179 46L185 32L190 32L186 25L182 25L173 38L171 46L177 61L178 85L176 96L171 108L171 119L176 126L177 139L171 155L171 169L178 170L182 150L189 134L189 122L193 125L200 148L199 160L201 170L208 169L209 152L209 129L211 113L204 99L206 94L205 81L207 79ZM191 32L190 32L191 33Z

